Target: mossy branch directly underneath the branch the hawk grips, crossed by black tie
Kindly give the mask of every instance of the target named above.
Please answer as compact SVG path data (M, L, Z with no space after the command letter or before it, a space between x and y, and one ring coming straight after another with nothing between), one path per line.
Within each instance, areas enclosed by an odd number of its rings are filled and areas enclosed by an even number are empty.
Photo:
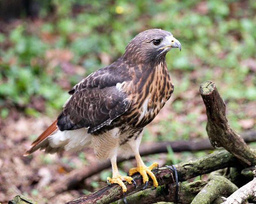
M195 181L189 184L179 183L178 203L190 204L200 190L207 184L207 181ZM146 189L126 197L130 204L153 204L161 201L175 202L175 184L159 186L156 190ZM123 200L115 201L112 204L125 204Z

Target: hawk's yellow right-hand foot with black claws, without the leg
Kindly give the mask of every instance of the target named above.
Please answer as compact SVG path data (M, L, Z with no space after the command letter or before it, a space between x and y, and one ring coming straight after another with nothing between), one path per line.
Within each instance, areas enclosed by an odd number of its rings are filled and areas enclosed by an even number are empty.
M154 187L158 187L158 182L157 182L157 178L156 176L153 174L153 172L151 172L151 170L154 167L158 167L157 162L154 162L153 164L151 164L149 167L146 167L144 163L139 163L139 165L135 168L131 168L129 170L129 175L134 175L134 173L139 172L140 175L142 175L143 178L143 183L145 184L146 181L148 181L148 175L152 178L153 180L153 185Z

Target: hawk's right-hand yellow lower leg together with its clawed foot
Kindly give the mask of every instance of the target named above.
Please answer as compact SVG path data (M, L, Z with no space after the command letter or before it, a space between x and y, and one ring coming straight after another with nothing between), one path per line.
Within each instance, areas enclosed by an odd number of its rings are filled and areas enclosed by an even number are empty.
M136 158L136 161L137 161L137 167L135 168L131 168L128 172L128 175L133 175L134 173L137 173L139 172L140 175L142 175L143 177L143 183L145 184L145 186L143 187L143 190L146 189L146 187L148 186L148 175L152 178L153 180L153 184L154 184L154 187L158 187L158 183L157 183L157 178L156 176L154 175L153 172L151 172L151 170L154 168L154 167L157 167L158 169L158 164L157 162L154 162L153 164L151 164L149 167L146 167L144 162L142 161L141 157L140 157L140 154L139 152L137 152L137 154L135 154L135 158Z

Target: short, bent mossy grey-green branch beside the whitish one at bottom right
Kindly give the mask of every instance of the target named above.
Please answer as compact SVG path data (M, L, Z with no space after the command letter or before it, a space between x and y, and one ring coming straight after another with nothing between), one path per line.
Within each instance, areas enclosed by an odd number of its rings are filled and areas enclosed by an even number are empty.
M229 196L238 187L223 176L212 176L206 186L195 196L191 204L211 204L219 195Z

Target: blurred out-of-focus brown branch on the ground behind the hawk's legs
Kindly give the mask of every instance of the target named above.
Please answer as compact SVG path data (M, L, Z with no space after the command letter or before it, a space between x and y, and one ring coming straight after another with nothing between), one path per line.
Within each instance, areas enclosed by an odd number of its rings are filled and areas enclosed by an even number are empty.
M256 130L246 131L243 132L241 135L244 138L244 141L246 141L247 143L256 141ZM212 145L210 144L208 138L191 141L164 141L156 142L153 144L142 144L140 146L140 155L145 156L156 153L164 153L167 152L168 146L172 147L172 150L174 152L214 149L214 147L212 147ZM131 157L130 159L133 158L134 157ZM118 163L125 160L126 159L123 157L117 157ZM97 174L109 167L111 167L111 163L110 161L106 161L104 163L96 162L95 164L90 164L90 168L85 166L80 170L73 170L69 174L65 175L65 178L61 178L60 181L55 182L55 184L52 185L52 193L47 193L47 195L49 197L52 197L55 194L62 193L66 190L72 190L79 186L79 184L83 183L86 178L89 178L92 175Z

